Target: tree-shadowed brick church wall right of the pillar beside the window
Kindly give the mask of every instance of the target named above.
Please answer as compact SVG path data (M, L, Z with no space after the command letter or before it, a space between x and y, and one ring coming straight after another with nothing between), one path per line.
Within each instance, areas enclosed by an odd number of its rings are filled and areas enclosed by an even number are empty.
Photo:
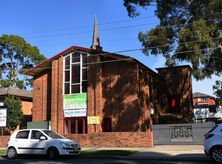
M113 132L149 130L151 104L157 109L159 103L157 81L154 72L134 62L102 65L101 113L111 118Z

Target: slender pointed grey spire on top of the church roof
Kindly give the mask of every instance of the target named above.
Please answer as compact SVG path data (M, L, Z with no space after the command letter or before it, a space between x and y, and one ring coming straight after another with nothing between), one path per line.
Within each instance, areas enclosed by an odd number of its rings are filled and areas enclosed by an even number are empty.
M91 48L94 50L102 51L102 47L100 46L100 41L99 41L99 32L98 32L96 16L94 17L93 39L92 39Z

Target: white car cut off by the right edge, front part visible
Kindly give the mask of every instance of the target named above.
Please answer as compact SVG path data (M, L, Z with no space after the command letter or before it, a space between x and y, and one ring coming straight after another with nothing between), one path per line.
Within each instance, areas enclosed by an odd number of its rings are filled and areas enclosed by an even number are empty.
M213 127L204 140L204 152L211 156L216 162L222 162L222 124Z

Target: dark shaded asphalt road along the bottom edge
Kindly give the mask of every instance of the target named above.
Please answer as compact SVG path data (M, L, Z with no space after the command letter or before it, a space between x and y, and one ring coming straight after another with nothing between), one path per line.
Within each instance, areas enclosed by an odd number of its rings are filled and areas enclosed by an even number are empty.
M19 159L0 158L0 163L7 164L213 164L213 161L170 161L170 160L148 160L148 159L114 159L114 158L60 158L57 160L48 160L47 158L22 157Z

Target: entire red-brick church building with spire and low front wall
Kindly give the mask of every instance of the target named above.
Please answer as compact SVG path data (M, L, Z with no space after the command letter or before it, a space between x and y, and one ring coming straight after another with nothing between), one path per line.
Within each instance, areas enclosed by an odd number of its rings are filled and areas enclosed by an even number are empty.
M33 76L33 122L82 146L152 146L151 125L192 112L189 66L158 68L105 52L97 23L91 48L72 46L26 72Z

